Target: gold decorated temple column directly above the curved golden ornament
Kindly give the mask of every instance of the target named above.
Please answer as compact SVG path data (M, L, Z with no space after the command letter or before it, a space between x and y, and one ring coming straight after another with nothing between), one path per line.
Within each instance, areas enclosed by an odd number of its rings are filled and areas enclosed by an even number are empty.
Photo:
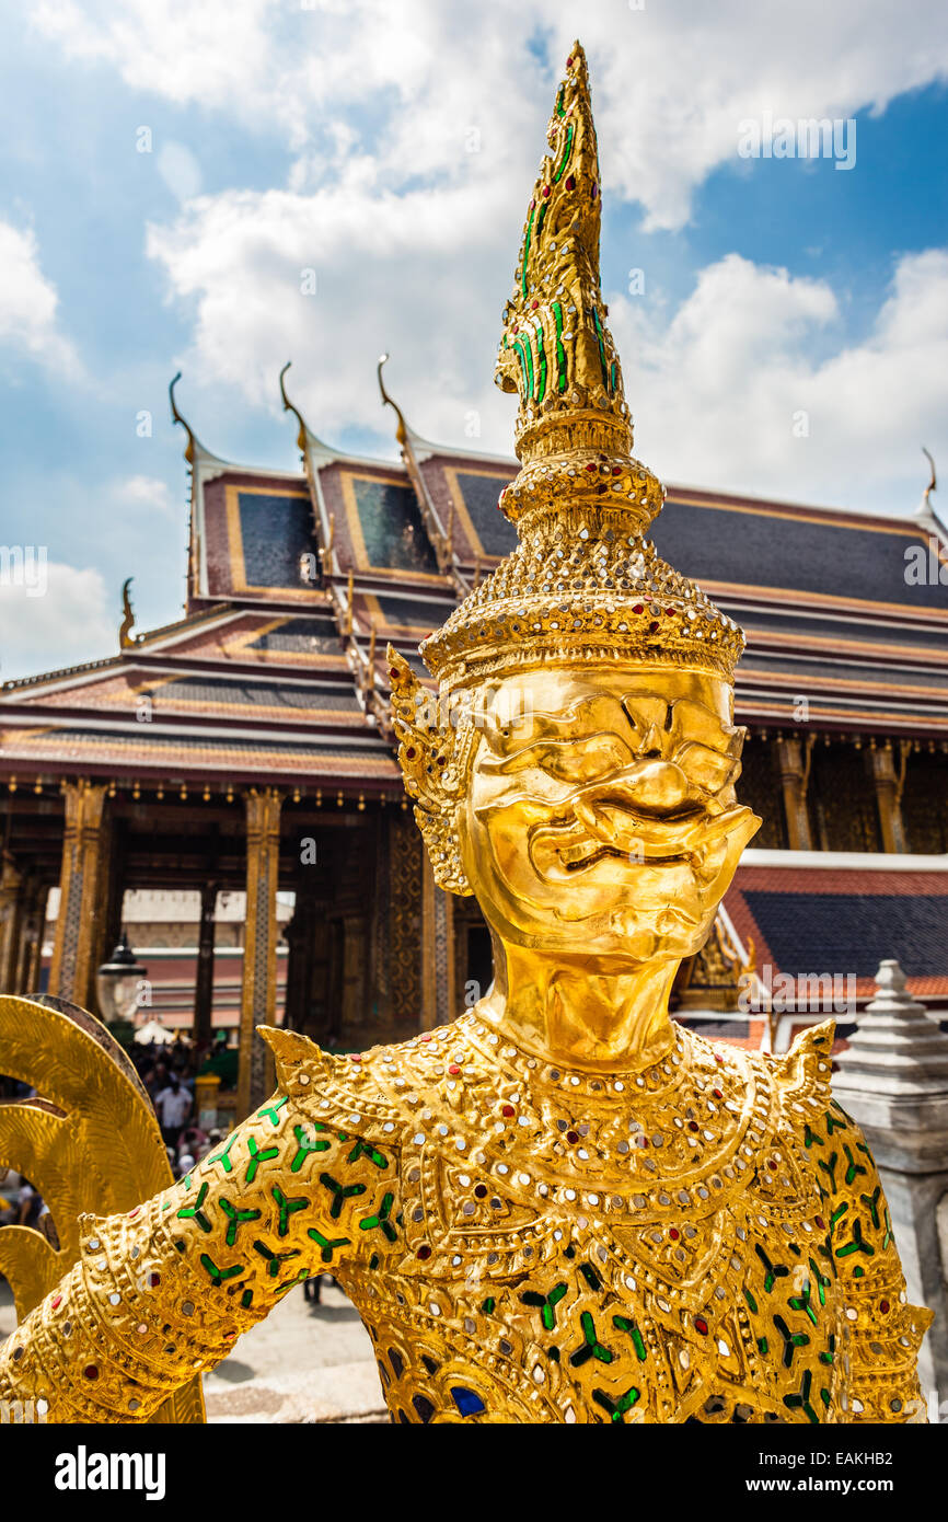
M62 793L65 834L49 992L72 998L82 1009L93 1009L108 860L105 782L81 778L67 782Z

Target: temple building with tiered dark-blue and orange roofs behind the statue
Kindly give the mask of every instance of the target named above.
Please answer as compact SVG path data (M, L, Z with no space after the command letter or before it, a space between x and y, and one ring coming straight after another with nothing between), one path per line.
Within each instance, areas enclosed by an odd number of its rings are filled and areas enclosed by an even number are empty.
M193 1024L207 1038L233 1008L239 1113L266 1084L259 1023L339 1049L397 1041L491 976L475 901L435 887L408 810L385 648L423 673L418 641L514 545L498 496L517 466L426 441L382 367L379 385L399 464L323 443L282 374L301 454L285 472L213 455L172 385L190 466L183 618L140 633L126 594L114 656L0 688L0 989L94 1008L126 895L198 895ZM680 1015L732 1020L750 986L747 1038L768 1017L782 1043L775 979L846 977L864 1001L883 957L937 1011L948 536L928 496L913 517L881 517L670 486L653 539L747 635L738 787L764 820L682 968ZM934 575L908 574L919 556ZM245 895L239 960L213 954L222 893Z

